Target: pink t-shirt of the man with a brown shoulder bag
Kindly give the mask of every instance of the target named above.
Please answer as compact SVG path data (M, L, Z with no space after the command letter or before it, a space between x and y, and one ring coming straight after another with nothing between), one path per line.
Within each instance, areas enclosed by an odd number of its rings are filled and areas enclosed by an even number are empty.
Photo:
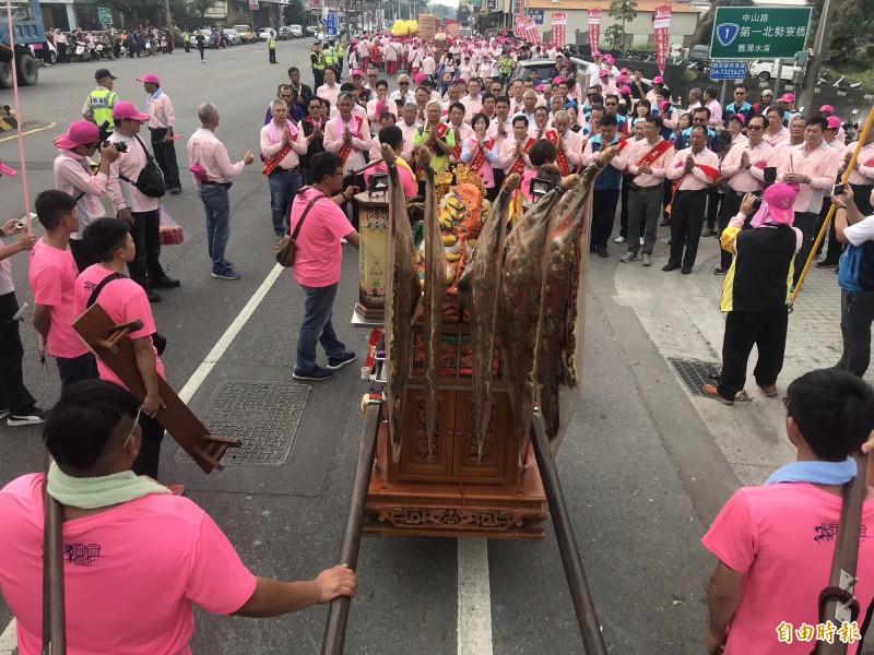
M288 229L294 233L300 215L317 189L298 193L292 204ZM340 239L354 231L345 213L330 198L321 198L309 210L300 234L297 235L297 250L294 260L294 278L298 284L310 287L326 287L340 279L340 263L343 261L343 247Z

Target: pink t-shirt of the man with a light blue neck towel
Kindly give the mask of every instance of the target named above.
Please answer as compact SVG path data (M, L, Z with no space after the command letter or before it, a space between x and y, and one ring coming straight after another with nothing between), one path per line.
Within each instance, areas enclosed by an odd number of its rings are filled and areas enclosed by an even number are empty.
M816 626L819 592L828 586L841 499L807 483L743 487L722 508L701 543L722 562L743 571L741 603L725 655L808 655L813 642L777 640L781 621ZM855 596L859 623L874 596L874 499L862 512ZM858 644L851 644L853 655Z

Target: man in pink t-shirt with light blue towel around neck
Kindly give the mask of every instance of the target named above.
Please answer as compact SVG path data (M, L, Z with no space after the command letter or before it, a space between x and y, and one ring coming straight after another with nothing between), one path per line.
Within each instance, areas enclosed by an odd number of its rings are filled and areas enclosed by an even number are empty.
M739 489L701 539L718 558L707 592L710 655L722 647L724 655L806 655L815 647L795 629L807 624L813 631L820 622L818 599L829 585L843 485L855 477L851 455L874 427L874 398L860 378L819 369L792 382L787 401L786 432L798 462L761 487ZM863 611L874 596L874 540L865 538L873 523L869 487L853 590ZM846 652L858 648L857 641Z

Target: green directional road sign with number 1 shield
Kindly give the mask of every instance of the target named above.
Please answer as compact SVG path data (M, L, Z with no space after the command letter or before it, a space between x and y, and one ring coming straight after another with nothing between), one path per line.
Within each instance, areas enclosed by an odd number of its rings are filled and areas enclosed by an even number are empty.
M792 59L810 24L810 7L718 7L710 59Z

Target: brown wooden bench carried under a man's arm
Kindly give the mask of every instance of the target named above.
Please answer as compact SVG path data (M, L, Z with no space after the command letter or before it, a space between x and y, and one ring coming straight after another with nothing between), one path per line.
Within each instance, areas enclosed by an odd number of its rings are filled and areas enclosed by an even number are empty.
M88 349L119 377L140 402L145 397L145 384L137 367L133 344L127 335L141 327L142 321L113 324L113 320L98 302L92 305L73 323L73 330ZM161 376L157 378L157 384L161 400L166 405L158 409L155 416L157 421L203 469L203 473L210 473L213 468L222 471L221 460L225 451L228 448L238 448L240 440L210 434L200 419Z

